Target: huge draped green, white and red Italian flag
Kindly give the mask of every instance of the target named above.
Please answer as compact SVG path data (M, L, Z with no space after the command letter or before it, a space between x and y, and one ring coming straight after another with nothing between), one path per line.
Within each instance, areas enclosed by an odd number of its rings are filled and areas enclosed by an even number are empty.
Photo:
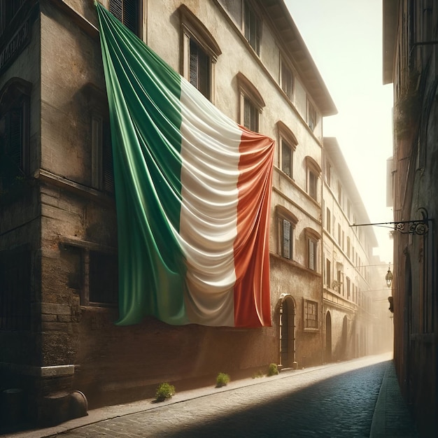
M117 324L155 316L271 325L274 141L223 115L96 6L118 216Z

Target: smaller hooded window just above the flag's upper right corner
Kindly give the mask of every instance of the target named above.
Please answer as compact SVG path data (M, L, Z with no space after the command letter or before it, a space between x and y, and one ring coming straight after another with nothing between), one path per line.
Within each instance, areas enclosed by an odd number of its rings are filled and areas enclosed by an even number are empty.
M242 73L237 73L237 81L240 92L240 124L253 132L259 132L264 100L257 88Z

